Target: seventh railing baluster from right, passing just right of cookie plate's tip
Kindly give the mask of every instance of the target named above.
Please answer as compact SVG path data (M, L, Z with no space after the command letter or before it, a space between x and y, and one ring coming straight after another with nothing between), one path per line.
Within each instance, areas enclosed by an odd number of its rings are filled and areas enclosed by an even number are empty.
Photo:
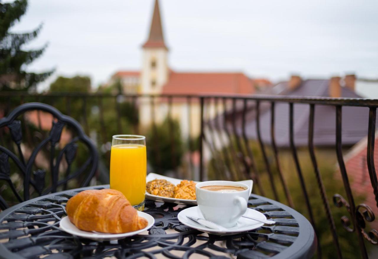
M251 174L251 178L253 181L256 183L257 188L259 188L259 192L262 196L265 196L264 188L262 187L261 181L260 181L260 176L257 173L257 168L256 168L256 162L253 156L253 152L251 150L251 147L249 146L249 141L247 137L247 133L245 131L245 120L246 120L246 114L247 114L247 99L244 99L243 101L243 114L242 114L242 136L244 140L244 146L245 150L247 152L248 158L249 158L249 166L252 168L252 171L249 170Z

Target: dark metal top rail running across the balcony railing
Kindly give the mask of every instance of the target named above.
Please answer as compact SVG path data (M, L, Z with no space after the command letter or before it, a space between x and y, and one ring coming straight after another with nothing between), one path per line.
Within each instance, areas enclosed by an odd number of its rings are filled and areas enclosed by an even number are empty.
M85 93L85 92L53 92L42 94L30 94L28 92L0 92L0 96L46 96L46 97L115 97L119 94ZM342 105L342 106L363 106L378 107L378 99L369 98L333 98L313 96L287 96L287 95L263 95L263 94L121 94L126 97L166 97L166 98L228 98L255 101L306 103L318 105Z

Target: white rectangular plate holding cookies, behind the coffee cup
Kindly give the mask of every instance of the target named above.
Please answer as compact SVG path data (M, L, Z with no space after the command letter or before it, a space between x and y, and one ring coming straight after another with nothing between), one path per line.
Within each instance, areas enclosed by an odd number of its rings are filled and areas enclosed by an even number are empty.
M146 182L148 183L149 181L155 180L155 179L165 179L169 181L170 183L177 185L179 184L182 179L176 179L176 178L171 178L168 176L164 175L158 175L156 173L149 173L146 178ZM195 183L200 183L196 182ZM245 181L239 181L238 183L243 183L249 186L249 195L251 195L252 192L252 187L253 187L253 181L252 180L245 180ZM186 199L177 199L177 198L168 198L168 197L162 197L158 195L153 195L148 192L146 192L146 200L153 200L153 201L162 201L162 202L170 202L170 203L178 203L178 204L189 204L189 205L197 205L196 200L186 200Z

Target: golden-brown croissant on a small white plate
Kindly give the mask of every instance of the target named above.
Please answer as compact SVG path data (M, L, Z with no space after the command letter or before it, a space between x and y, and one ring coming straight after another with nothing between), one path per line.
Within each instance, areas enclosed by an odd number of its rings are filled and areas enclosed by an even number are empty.
M147 226L138 217L126 197L118 190L85 190L68 200L66 212L70 221L84 231L124 233Z

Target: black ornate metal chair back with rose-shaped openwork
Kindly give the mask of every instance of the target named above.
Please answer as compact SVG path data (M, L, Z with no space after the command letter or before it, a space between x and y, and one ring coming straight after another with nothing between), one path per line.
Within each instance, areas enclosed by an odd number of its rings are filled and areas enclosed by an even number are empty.
M26 131L25 128L27 125L25 125L26 123L23 117L21 120L17 120L17 117L20 115L24 116L25 112L33 110L38 113L38 116L39 111L50 113L53 116L53 121L48 136L35 144L33 151L31 151L29 158L26 161L23 154L23 149L25 148L22 148L21 143L23 139L23 131ZM40 117L38 117L38 119L39 118ZM8 127L9 131L6 127ZM64 127L66 127L72 134L72 138L64 147L58 150L59 152L56 152L58 149L57 147L60 146L57 144L60 142ZM0 145L0 183L3 182L0 185L0 208L3 210L9 207L3 195L5 192L7 192L7 197L13 193L15 196L13 198L17 199L18 202L22 202L29 200L31 195L45 195L50 192L56 192L57 188L65 190L67 189L70 180L77 181L80 178L79 180L81 180L81 184L79 185L81 187L88 186L91 178L97 170L98 153L93 142L84 133L81 125L76 120L67 115L63 115L53 106L44 103L25 103L20 105L11 111L6 117L0 119L0 131L2 131L2 142L0 142L0 144L4 142L3 140L8 140L9 144L9 149ZM28 133L30 136L30 132ZM11 138L9 138L9 135ZM24 147L25 145L27 144L25 143ZM85 162L82 163L80 163L80 161L75 162L75 157L77 157L76 153L79 147L80 150L82 148L87 150L88 154ZM17 151L12 152L11 150L13 149L16 149ZM51 175L51 181L45 179L46 168L33 170L36 167L37 154L42 152L42 150L45 150L45 153L50 153L50 161L47 168L50 171L47 172ZM17 168L15 171L17 171L23 178L22 184L19 184L18 186L12 182L12 178L17 177L11 178L16 172L12 172L11 174L11 164L9 163L9 159L13 162L13 168ZM64 165L62 166L61 164ZM73 164L76 168L71 170ZM62 170L62 167L64 170ZM6 184L4 184L4 181ZM48 186L45 186L46 182L49 183ZM22 192L22 186L23 195L20 195L19 191ZM9 187L11 192L9 192ZM19 190L17 190L17 187Z

